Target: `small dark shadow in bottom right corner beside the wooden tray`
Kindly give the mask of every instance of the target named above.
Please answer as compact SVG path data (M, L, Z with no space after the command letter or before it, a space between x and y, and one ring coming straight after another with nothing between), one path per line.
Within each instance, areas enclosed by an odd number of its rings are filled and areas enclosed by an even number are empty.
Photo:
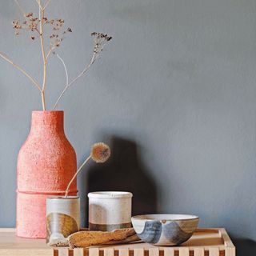
M245 238L232 238L237 256L255 256L256 242Z

